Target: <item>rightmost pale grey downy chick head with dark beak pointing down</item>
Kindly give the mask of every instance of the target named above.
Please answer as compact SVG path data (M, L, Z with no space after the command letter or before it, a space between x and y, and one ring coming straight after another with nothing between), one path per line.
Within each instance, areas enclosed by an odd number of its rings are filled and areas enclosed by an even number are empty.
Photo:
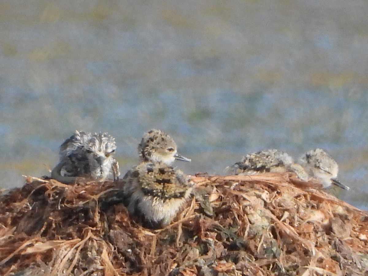
M306 163L306 167L309 169L310 174L321 182L323 188L328 188L334 184L345 190L350 189L350 187L337 180L339 165L323 149L317 148L308 151L302 161Z

